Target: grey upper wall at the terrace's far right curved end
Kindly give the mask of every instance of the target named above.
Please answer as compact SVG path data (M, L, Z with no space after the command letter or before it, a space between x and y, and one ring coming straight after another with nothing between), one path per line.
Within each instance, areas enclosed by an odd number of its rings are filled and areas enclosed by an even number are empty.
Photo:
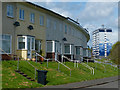
M67 25L67 34L65 34L65 24ZM71 31L69 27L71 27ZM63 30L64 37L67 39L67 43L74 44L75 46L82 46L84 48L87 47L87 37L82 32L82 29L66 22L64 23Z

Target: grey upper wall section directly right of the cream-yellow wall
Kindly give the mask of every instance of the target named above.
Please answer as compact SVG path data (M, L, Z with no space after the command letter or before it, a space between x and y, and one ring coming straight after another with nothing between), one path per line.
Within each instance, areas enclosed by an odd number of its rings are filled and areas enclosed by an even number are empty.
M48 15L48 14L46 14L46 17L47 19L50 20L50 27L46 28L46 40L57 40L60 43L62 43L63 21L58 17ZM56 23L56 29L54 29L54 23Z

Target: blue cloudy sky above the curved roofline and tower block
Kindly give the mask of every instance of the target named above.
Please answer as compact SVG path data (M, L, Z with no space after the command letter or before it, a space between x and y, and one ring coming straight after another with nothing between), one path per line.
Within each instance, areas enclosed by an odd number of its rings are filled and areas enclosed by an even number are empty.
M90 33L88 45L92 46L92 31L101 28L113 30L111 41L118 41L118 1L119 0L28 0L50 9L65 17L78 19L80 25Z

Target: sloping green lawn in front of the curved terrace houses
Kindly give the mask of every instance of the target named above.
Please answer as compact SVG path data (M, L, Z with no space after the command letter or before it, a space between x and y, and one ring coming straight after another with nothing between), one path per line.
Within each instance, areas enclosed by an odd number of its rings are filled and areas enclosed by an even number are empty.
M47 85L59 85L72 82L80 82L86 80L93 80L104 77L111 77L118 75L117 68L113 68L110 65L106 65L106 69L102 64L88 63L89 66L95 69L95 75L92 75L90 70L83 65L79 64L79 68L74 68L74 63L66 62L65 64L71 68L70 71L64 66L60 65L60 71L57 70L57 62L49 62L48 68L47 63L43 64L30 61L37 69L47 70ZM31 67L26 61L20 61L20 70L34 79L35 69ZM17 61L3 61L2 62L2 87L3 88L36 88L43 87L44 85L29 81L22 75L16 73L14 70L17 69ZM47 86L46 85L46 86Z

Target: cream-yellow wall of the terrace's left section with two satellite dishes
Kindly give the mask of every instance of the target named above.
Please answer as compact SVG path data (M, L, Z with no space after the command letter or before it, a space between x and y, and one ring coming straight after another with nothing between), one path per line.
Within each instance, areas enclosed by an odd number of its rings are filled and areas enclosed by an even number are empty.
M7 4L14 6L14 17L10 18L7 16ZM22 58L27 57L27 51L26 50L18 50L17 48L17 35L31 35L35 36L35 39L41 40L41 48L43 50L44 56L46 55L46 16L40 9L37 9L35 6L32 6L28 3L11 3L11 2L5 2L2 6L3 14L3 34L10 34L12 36L12 54L21 55ZM19 9L24 10L24 20L19 19ZM35 23L30 22L30 13L35 14ZM39 16L44 16L44 25L40 25ZM20 23L20 26L15 27L13 23L15 21L18 21ZM29 30L27 27L29 25L33 26L33 30ZM34 52L34 51L32 51Z

